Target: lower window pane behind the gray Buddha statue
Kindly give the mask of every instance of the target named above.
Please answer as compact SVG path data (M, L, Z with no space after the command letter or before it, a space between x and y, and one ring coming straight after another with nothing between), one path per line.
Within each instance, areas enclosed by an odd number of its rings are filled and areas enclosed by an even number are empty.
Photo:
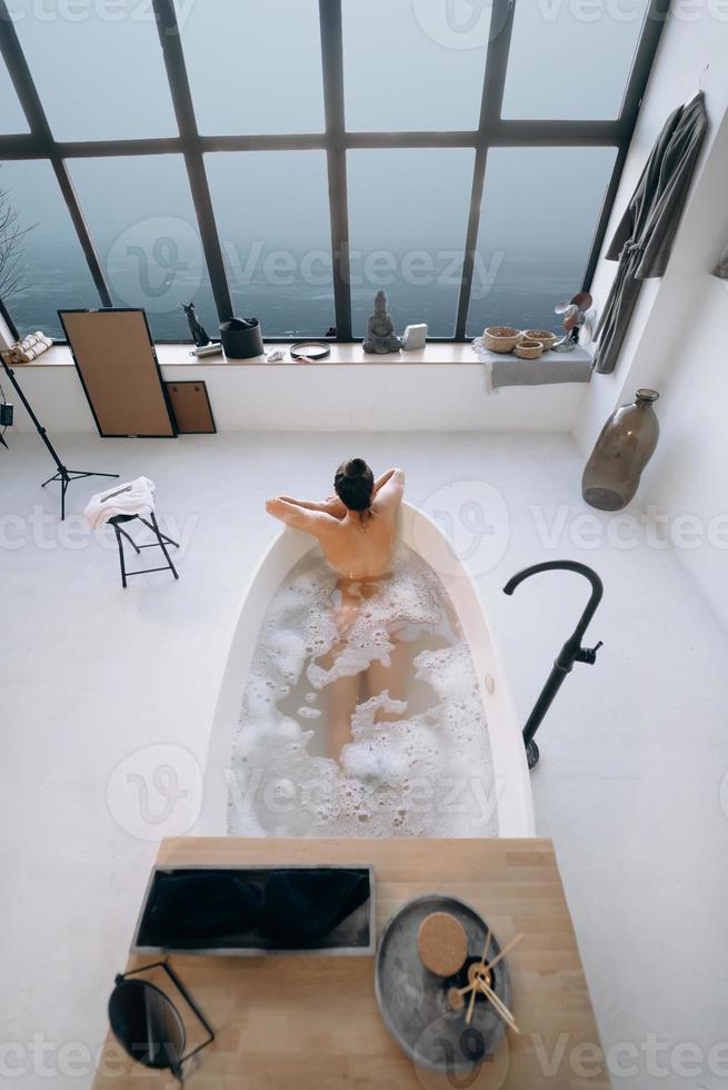
M349 152L356 337L365 334L379 288L398 333L427 321L430 336L453 335L473 157L469 148Z

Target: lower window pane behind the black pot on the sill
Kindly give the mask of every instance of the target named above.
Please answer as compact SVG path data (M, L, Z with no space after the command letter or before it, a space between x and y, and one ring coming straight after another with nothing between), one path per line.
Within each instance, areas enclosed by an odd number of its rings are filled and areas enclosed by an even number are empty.
M206 156L238 317L263 336L322 337L333 325L331 229L322 151Z

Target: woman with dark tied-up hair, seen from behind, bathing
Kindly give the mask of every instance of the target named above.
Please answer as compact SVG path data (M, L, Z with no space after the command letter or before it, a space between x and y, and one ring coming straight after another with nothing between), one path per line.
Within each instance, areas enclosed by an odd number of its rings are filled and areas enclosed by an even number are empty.
M320 663L330 671L347 651L348 636L359 611L377 593L377 581L391 571L397 544L397 515L405 494L402 469L388 469L377 480L361 458L339 466L333 478L336 495L321 503L307 503L290 496L269 499L266 509L287 526L312 534L323 555L337 572L335 618L339 640ZM351 741L351 716L362 700L385 691L391 701L403 701L409 673L407 644L398 635L406 628L392 618L388 625L389 647L372 658L366 674L346 673L341 666L327 685L329 694L329 755L338 757ZM356 655L353 656L356 660ZM388 663L382 662L388 660ZM351 667L352 670L355 667ZM399 711L378 710L377 716L397 719Z

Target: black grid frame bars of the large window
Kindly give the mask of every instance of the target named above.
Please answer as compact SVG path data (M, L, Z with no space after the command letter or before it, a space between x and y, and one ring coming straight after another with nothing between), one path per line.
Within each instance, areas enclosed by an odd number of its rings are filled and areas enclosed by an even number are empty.
M301 135L202 136L197 127L173 0L152 0L179 136L138 140L59 141L53 138L6 0L0 0L0 52L30 128L27 133L0 135L0 161L43 159L51 164L101 306L109 307L112 306L112 299L107 277L73 188L67 161L93 157L181 155L187 168L218 318L223 321L232 316L232 303L212 210L205 155L211 151L296 151L311 148L323 150L327 157L337 331L336 337L330 339L346 344L353 340L349 285L347 151L352 148L472 148L475 165L455 333L451 337L430 338L440 343L463 343L470 339L466 334L466 325L488 152L491 148L614 147L616 149L615 165L580 286L581 290L589 290L645 88L670 7L670 0L650 0L619 116L615 120L508 120L501 117L501 105L517 2L519 0L493 0L491 28L497 30L491 31L488 42L480 118L478 128L473 130L348 131L343 103L341 0L319 0L325 131ZM7 300L0 299L0 314L6 319L12 336L18 337L18 329ZM266 339L282 341L287 338L267 337Z

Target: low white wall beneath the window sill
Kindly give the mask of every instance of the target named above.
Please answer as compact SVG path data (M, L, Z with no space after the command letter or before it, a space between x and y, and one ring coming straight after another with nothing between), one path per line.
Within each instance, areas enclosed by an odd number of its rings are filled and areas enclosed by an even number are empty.
M482 364L173 366L166 379L203 378L221 432L571 430L584 385L515 387L488 394ZM96 432L74 367L17 368L49 432ZM8 385L4 383L3 385ZM11 396L11 392L7 392ZM18 398L17 427L31 427Z

